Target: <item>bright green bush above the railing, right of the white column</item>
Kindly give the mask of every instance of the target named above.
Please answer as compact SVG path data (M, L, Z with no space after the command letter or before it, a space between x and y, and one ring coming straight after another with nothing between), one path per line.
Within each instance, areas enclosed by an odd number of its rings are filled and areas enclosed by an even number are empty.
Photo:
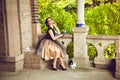
M85 10L85 21L92 35L120 35L120 5L106 4Z

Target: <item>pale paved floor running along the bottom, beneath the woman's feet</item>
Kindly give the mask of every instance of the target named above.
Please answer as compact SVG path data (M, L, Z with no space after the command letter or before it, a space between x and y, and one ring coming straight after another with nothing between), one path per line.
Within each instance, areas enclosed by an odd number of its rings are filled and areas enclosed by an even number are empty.
M44 69L25 69L20 72L0 72L0 80L118 80L108 70L103 69L68 69L52 71Z

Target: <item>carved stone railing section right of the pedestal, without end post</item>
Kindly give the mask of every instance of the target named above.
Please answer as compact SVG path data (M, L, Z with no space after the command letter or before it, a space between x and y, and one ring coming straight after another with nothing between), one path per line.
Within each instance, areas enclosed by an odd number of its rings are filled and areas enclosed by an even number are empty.
M107 59L104 57L104 51L110 44L115 44L115 47L117 47L116 40L118 39L118 36L87 36L87 42L93 44L93 46L96 48L97 56L94 59L94 63L96 64L96 67L103 67L107 68L107 66L110 64L112 59ZM101 46L100 46L101 44ZM100 66L101 65L101 66Z

